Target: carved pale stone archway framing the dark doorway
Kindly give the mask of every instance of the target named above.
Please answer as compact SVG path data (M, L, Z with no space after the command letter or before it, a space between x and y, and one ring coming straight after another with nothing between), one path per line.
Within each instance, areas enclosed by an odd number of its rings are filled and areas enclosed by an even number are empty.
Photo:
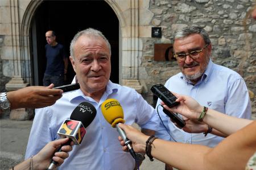
M15 1L15 0L11 0ZM30 28L31 19L35 14L38 6L43 2L31 1L28 3L26 10L22 17L20 24L20 31L16 35L19 35L19 48L20 48L20 78L29 82L32 82L31 75L31 40ZM139 13L143 15L151 16L151 12L148 10L149 0L140 1L113 1L105 0L109 6L113 9L119 20L119 82L131 86L141 92L142 86L139 84L138 69L140 65L142 55L142 40L139 38L139 30L141 27L139 24ZM17 5L18 6L18 5ZM18 7L14 7L18 11ZM150 17L149 17L150 18ZM150 24L144 24L149 26ZM19 22L14 22L19 23ZM24 67L26 65L26 67ZM16 77L16 76L14 76Z

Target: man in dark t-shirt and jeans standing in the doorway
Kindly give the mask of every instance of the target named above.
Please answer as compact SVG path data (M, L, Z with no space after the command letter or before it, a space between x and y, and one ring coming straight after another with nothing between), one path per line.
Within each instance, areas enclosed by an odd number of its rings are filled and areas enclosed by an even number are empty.
M63 45L56 42L56 34L50 30L46 32L46 72L44 72L43 85L53 83L56 86L64 85L64 77L68 69L68 55Z

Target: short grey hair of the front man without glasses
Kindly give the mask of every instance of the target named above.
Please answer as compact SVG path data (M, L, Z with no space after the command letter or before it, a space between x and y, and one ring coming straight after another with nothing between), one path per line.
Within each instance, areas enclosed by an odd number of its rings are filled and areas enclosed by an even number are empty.
M87 28L86 30L82 30L82 31L77 32L77 34L74 36L74 38L72 39L72 41L70 43L69 52L70 52L70 55L73 57L73 59L75 59L74 51L73 51L74 45L76 44L77 40L82 35L93 36L95 38L99 38L100 37L100 38L104 39L106 44L109 47L109 52L110 52L110 55L111 55L110 43L109 43L108 39L106 39L106 37L102 34L102 32L98 31L98 30L95 30L93 28Z

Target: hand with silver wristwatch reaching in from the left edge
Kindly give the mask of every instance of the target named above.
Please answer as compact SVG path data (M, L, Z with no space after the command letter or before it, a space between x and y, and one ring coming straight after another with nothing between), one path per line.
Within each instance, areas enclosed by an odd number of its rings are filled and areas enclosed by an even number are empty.
M41 108L53 105L61 98L63 90L52 89L53 84L44 86L28 86L11 92L0 94L0 113L10 113L19 108Z

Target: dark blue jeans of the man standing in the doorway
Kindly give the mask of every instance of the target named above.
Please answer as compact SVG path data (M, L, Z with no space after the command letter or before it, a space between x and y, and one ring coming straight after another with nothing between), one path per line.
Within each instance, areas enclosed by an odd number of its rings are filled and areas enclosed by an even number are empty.
M64 85L64 75L60 74L59 76L52 76L44 74L43 85L48 86L51 83L53 83L55 87Z

